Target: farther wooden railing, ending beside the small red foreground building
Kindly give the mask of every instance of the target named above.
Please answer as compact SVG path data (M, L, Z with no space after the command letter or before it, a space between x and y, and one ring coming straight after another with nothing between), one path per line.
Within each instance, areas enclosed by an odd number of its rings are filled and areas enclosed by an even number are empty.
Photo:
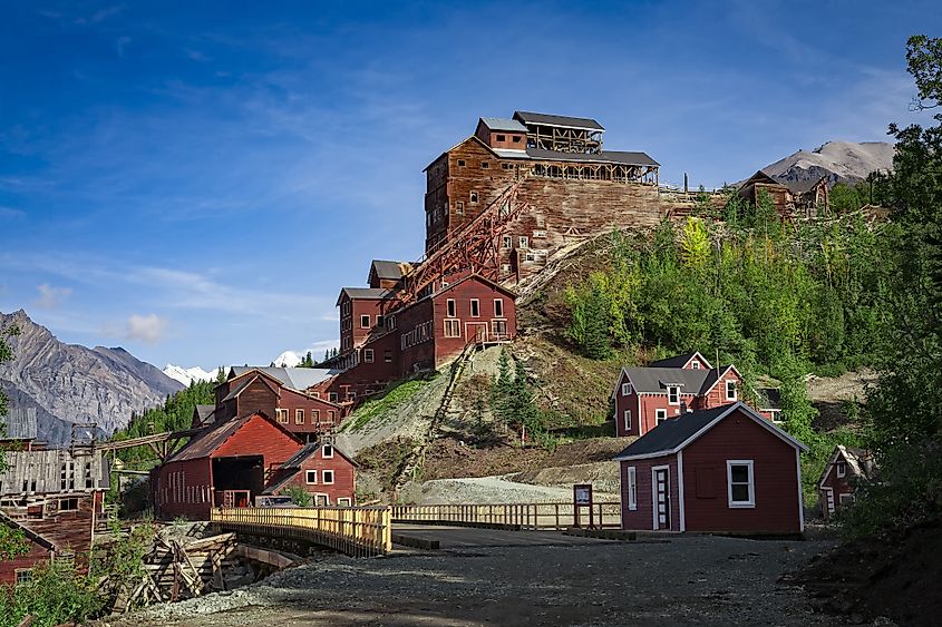
M589 527L589 508L579 508L577 520L574 509L572 502L392 506L392 520L435 525L453 522L472 527L508 526L521 529ZM596 528L620 528L621 504L616 501L593 503L592 523Z

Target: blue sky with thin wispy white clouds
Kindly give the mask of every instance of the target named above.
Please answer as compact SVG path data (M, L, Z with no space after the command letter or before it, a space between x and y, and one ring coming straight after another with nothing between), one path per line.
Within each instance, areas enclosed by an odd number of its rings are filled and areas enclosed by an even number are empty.
M158 366L338 335L421 253L421 169L515 109L594 117L661 179L744 178L907 123L934 2L0 2L0 311Z

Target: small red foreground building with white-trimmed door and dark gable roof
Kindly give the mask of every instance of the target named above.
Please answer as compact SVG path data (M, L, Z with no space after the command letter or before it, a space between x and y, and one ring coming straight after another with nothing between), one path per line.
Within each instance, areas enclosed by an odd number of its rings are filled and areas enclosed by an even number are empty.
M806 450L741 402L669 419L614 458L622 528L800 533Z

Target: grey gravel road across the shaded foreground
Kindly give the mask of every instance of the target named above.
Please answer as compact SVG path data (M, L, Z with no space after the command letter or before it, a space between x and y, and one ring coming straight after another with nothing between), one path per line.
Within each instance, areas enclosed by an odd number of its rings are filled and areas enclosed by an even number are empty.
M249 588L110 624L835 625L812 613L800 589L777 582L828 546L705 536L328 555Z

